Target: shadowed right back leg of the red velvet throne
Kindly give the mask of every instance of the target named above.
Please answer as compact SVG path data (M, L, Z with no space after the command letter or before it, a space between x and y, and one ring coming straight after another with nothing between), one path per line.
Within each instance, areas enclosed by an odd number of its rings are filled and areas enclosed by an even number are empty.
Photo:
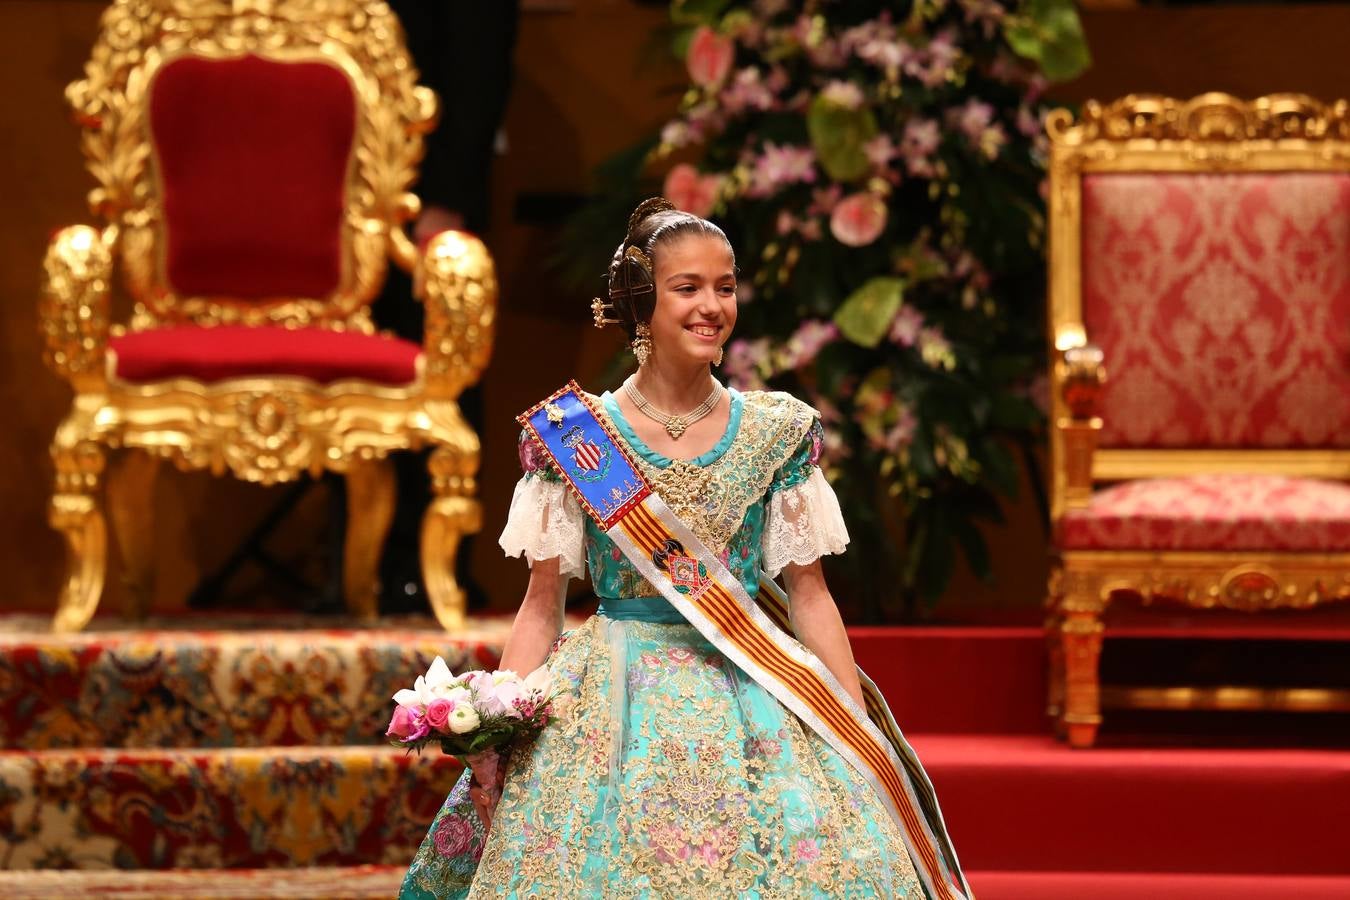
M343 592L358 619L379 615L379 555L394 518L394 467L387 459L352 460L347 467L347 544Z

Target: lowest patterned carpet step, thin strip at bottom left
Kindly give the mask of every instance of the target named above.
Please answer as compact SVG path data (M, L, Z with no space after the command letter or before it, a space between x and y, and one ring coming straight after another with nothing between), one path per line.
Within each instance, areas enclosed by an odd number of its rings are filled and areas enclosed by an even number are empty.
M205 869L192 872L0 870L0 897L212 897L220 900L306 899L387 900L398 892L406 866L313 869Z

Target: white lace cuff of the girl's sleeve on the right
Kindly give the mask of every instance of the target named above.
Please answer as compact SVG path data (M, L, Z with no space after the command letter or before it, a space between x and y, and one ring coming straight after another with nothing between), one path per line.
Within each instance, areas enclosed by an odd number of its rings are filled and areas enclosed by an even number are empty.
M828 553L842 553L848 528L834 488L819 468L806 480L768 498L764 524L764 571L776 578L790 563L806 565Z

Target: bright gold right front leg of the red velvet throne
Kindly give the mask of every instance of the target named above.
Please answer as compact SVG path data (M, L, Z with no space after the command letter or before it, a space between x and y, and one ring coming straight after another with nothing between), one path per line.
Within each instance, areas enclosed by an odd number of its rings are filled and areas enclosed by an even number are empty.
M447 631L464 627L464 592L455 579L459 541L482 528L482 507L473 498L477 453L440 447L428 461L432 502L423 518L421 563L427 596Z

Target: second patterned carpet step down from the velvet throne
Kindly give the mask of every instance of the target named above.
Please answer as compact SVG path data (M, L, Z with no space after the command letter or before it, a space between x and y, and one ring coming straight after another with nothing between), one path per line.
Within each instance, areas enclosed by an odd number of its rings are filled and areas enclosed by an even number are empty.
M0 868L406 865L459 776L392 746L0 753Z

